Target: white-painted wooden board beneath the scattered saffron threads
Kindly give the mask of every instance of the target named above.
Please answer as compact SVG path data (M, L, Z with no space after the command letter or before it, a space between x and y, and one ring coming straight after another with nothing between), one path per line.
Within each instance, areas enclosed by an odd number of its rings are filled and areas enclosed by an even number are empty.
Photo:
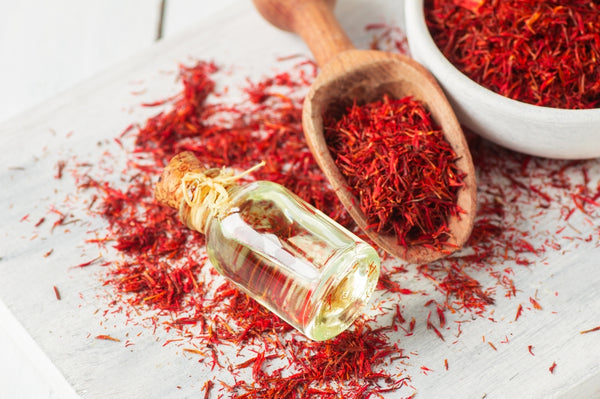
M355 43L365 47L371 34L364 26L401 24L402 8L402 2L392 0L344 0L337 12ZM168 333L125 325L126 317L118 313L101 314L110 301L110 289L102 286L94 269L71 266L98 255L97 247L85 240L90 230L101 230L103 222L85 218L89 198L76 192L70 179L53 178L57 162L73 155L98 162L106 148L118 154L112 139L130 123L143 122L155 112L139 104L178 91L175 73L181 62L214 59L235 66L221 82L235 86L247 76L272 73L281 67L274 62L277 57L296 53L307 53L297 37L267 25L250 2L239 2L196 29L0 126L0 311L14 316L3 317L13 322L2 327L13 337L26 332L31 338L16 341L24 356L38 361L40 378L50 381L49 397L65 397L70 390L84 398L194 397L212 376L181 348L163 346ZM136 91L143 94L132 95ZM124 158L115 157L115 168ZM592 178L598 179L595 165ZM33 226L47 216L52 204L64 203L65 198L80 222L53 232L45 225ZM29 216L23 221L25 215ZM555 230L556 223L543 220L535 228ZM411 383L390 397L415 390L424 398L600 397L600 335L579 334L600 325L598 223L579 227L588 229L594 242L564 242L564 254L552 252L529 268L515 268L521 291L512 299L497 298L493 321L474 318L459 338L443 342L422 323L414 335L399 335L399 346L414 352L401 370L410 375ZM52 255L44 257L50 249ZM415 289L427 289L423 281L414 284ZM60 301L54 285L60 288ZM516 305L535 293L543 310L527 312L513 322ZM411 301L405 304L406 311L424 320L427 309ZM98 334L127 337L134 345L95 340ZM497 351L482 342L484 336ZM508 343L500 344L505 338ZM528 345L535 347L535 356L528 353ZM444 359L449 361L448 371ZM553 362L557 368L550 373ZM424 372L422 366L432 371Z

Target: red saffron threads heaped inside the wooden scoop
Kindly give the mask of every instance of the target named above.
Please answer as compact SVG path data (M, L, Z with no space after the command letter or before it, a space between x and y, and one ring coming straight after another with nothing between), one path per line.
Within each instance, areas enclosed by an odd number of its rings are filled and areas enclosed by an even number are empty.
M368 229L399 244L443 248L464 174L423 104L410 97L324 115L327 146L366 216Z

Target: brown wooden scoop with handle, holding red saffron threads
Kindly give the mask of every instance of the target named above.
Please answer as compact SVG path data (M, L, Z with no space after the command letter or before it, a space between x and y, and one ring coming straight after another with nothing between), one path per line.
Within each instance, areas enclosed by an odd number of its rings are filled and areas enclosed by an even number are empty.
M253 0L260 14L276 27L299 34L321 71L304 100L302 123L306 140L340 201L358 226L382 249L411 263L427 263L461 248L471 234L476 211L473 161L454 111L435 78L420 64L400 54L356 50L333 14L334 0ZM380 235L367 228L359 201L348 190L323 135L323 115L351 105L412 96L423 102L460 157L457 167L466 173L458 206L466 213L448 221L451 239L444 248L405 247L395 235ZM400 132L399 132L400 134Z

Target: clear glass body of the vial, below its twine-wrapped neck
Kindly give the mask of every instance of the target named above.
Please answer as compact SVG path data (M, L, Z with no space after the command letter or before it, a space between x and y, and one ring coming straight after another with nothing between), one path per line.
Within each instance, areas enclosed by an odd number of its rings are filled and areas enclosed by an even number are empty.
M207 226L214 267L312 339L345 330L377 283L375 250L274 183L232 194L230 212Z

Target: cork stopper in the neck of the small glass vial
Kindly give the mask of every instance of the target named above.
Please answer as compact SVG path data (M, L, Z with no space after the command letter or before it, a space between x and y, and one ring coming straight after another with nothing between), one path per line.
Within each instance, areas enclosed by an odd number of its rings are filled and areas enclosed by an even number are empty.
M154 198L163 205L179 209L183 200L181 179L188 172L202 170L204 168L193 153L185 151L175 155L165 167L154 187Z

